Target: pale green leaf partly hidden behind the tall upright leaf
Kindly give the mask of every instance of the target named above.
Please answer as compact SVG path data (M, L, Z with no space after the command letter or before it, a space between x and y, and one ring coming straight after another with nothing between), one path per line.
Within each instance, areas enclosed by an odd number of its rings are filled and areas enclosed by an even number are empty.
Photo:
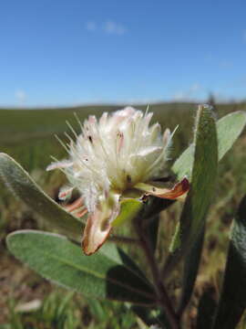
M221 118L217 124L218 160L231 149L246 124L246 112L235 111ZM190 177L194 157L194 145L191 144L176 160L172 171L182 179L185 175Z

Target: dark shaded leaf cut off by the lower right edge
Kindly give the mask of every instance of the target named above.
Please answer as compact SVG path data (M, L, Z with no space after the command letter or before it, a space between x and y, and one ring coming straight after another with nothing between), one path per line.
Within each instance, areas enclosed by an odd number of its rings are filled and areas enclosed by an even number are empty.
M246 196L231 232L224 281L213 329L234 329L246 308Z

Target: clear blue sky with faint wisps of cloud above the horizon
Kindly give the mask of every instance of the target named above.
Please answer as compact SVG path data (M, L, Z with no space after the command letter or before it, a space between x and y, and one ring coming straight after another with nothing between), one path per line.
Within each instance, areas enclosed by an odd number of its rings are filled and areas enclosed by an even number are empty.
M0 106L246 99L246 1L7 0Z

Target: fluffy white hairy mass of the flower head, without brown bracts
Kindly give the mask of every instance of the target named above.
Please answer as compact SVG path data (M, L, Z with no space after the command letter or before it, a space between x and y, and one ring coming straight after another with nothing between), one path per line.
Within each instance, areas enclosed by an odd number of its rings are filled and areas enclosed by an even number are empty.
M97 121L89 116L76 141L70 139L69 159L50 164L47 170L63 168L84 198L89 212L100 197L116 197L138 183L163 175L171 135L161 134L159 123L150 125L153 113L132 107L103 113Z

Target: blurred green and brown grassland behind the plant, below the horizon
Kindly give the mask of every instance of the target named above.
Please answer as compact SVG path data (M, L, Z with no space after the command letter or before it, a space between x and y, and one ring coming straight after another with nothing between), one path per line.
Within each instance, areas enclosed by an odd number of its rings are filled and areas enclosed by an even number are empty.
M46 173L50 155L66 156L54 134L64 139L68 120L75 128L76 111L81 121L88 114L99 116L103 111L114 111L119 106L89 106L46 110L0 110L0 152L10 154L22 164L46 192L56 198L59 186L64 182L60 173ZM145 109L146 106L138 108ZM196 104L160 103L151 106L153 121L163 128L179 124L172 158L186 148L192 140ZM237 110L246 110L246 103L217 104L215 115L221 116ZM77 127L78 130L78 127ZM241 196L246 193L246 133L225 156L219 169L219 179L213 205L208 218L208 233L205 241L200 275L190 309L186 315L187 328L192 328L196 316L198 296L211 289L215 300L219 297L221 271L224 266L228 232L234 211ZM139 324L125 305L116 302L98 302L57 289L42 280L32 271L14 260L5 249L5 236L18 228L46 228L42 218L10 195L0 183L0 328L138 328ZM168 244L174 222L179 215L179 206L170 207L162 216L165 226L160 244ZM159 254L161 252L159 251ZM138 257L138 255L137 255ZM160 256L159 256L160 257ZM173 298L179 293L179 282L169 284ZM21 311L26 302L37 301L37 309ZM18 311L19 310L19 311ZM113 318L113 314L120 314ZM242 324L244 325L244 324ZM242 326L243 327L243 326Z

